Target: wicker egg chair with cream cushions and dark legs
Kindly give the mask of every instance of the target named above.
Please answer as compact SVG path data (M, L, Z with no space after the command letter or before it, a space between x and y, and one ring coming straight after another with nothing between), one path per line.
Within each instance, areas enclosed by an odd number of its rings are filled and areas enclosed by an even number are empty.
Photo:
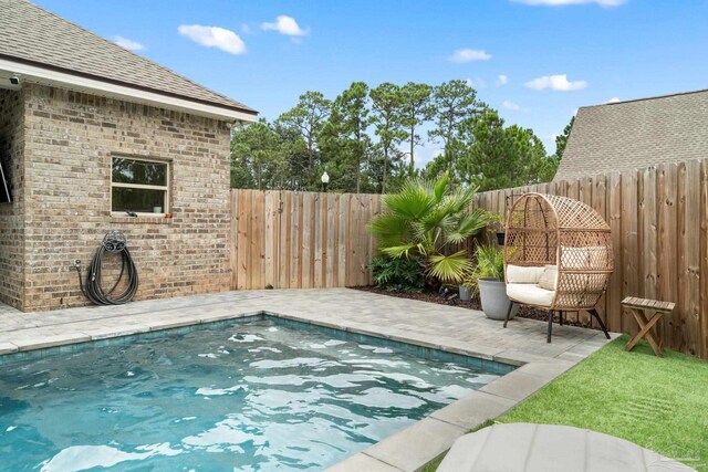
M513 304L553 314L587 311L610 339L595 305L605 292L614 255L610 227L587 204L566 197L525 193L509 210L504 244L507 295Z

